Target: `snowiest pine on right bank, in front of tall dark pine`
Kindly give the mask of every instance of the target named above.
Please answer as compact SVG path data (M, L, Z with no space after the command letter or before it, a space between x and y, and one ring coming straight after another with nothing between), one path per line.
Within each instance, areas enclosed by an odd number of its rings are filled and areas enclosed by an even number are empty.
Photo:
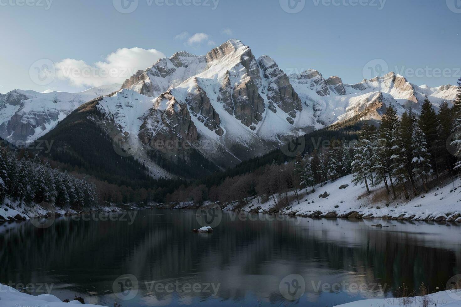
M431 154L427 150L426 137L421 131L418 124L414 124L413 139L412 139L412 164L413 174L423 182L424 190L426 193L429 191L427 188L428 180L427 175L432 174ZM424 181L426 179L426 182Z

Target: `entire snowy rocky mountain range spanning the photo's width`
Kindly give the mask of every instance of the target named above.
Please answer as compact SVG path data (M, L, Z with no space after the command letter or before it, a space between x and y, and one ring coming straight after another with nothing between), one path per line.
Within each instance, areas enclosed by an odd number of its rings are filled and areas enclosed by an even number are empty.
M23 99L25 92L30 91L0 95L5 139L32 141L84 100L57 110L45 107L53 110L48 112L32 98ZM456 87L418 87L393 72L356 84L338 76L325 79L312 69L287 75L269 56L256 58L241 41L230 40L204 56L177 52L138 71L97 102L104 119L92 120L139 161L152 160L152 151L160 159L187 161L194 149L224 168L332 123L379 121L389 105L399 115L410 108L418 114L426 95L437 110L455 99ZM158 161L146 165L156 177L170 176Z

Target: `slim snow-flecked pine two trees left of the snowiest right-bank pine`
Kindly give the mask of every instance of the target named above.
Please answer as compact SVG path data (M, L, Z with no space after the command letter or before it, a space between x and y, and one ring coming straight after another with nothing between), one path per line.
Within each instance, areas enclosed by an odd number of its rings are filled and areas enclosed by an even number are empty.
M408 179L408 168L407 168L407 151L404 147L402 139L402 127L400 122L396 122L394 130L392 131L392 177L396 179L397 184L402 185L403 193L405 198L410 198L408 195L405 181Z

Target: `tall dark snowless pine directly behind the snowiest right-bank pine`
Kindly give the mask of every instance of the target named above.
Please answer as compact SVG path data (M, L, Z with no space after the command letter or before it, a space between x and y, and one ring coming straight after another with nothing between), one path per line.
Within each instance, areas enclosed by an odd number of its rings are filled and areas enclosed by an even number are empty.
M422 131L422 133L425 135L426 138L426 144L427 148L429 150L429 153L431 155L431 164L432 168L436 169L437 168L437 151L438 147L441 144L437 144L439 142L437 138L437 130L439 126L437 114L432 107L431 102L429 101L429 98L424 100L424 103L421 105L421 116L420 119L418 120L419 127ZM444 144L443 144L444 146ZM438 177L438 172L437 172L437 177Z

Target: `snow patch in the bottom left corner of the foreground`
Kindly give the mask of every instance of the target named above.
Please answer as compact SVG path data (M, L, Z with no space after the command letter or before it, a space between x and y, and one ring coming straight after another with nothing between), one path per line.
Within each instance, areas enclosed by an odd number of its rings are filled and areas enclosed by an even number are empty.
M21 293L18 290L4 284L0 284L0 306L47 306L47 307L69 307L69 304L80 306L96 306L81 304L79 301L65 303L54 295L41 294L38 296Z

